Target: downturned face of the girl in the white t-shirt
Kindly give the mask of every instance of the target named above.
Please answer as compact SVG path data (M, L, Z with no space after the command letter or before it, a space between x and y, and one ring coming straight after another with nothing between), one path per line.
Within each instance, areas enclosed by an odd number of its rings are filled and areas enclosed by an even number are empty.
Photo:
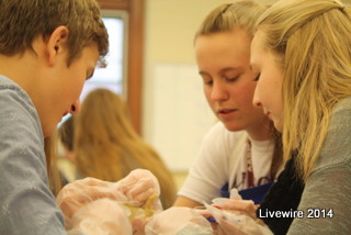
M195 54L204 93L215 115L229 131L260 133L269 120L252 104L256 82L250 69L250 43L240 29L200 35Z

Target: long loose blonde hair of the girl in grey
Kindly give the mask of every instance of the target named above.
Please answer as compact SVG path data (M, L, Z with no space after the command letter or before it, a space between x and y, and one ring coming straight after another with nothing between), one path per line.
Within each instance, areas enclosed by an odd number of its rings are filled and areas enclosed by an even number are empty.
M276 55L283 78L283 149L298 149L306 180L324 145L335 105L351 96L351 14L336 0L287 0L258 21L263 47Z

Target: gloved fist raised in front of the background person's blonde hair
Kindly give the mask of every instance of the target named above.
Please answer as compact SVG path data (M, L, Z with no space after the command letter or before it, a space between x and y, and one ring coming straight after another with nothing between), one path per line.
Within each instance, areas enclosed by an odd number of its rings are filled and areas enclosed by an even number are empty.
M152 194L160 194L160 184L157 178L145 169L135 169L120 180L115 188L122 192L133 205L143 205Z

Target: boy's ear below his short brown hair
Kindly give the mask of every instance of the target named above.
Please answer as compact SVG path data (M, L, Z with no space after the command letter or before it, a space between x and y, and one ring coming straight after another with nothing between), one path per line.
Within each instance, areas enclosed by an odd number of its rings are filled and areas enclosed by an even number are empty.
M68 41L68 29L66 26L58 26L52 33L47 41L47 56L48 64L53 66L56 61L57 55L63 53L67 48L66 43Z

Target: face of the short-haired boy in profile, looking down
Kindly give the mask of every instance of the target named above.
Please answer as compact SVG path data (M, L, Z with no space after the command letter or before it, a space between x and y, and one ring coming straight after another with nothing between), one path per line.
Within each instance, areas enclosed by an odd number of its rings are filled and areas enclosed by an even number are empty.
M50 78L45 82L47 91L39 111L44 136L53 134L64 115L79 111L79 96L84 81L93 75L98 59L99 51L95 44L86 46L81 57L75 59L69 67L67 56L57 59ZM72 105L75 111L71 110Z

